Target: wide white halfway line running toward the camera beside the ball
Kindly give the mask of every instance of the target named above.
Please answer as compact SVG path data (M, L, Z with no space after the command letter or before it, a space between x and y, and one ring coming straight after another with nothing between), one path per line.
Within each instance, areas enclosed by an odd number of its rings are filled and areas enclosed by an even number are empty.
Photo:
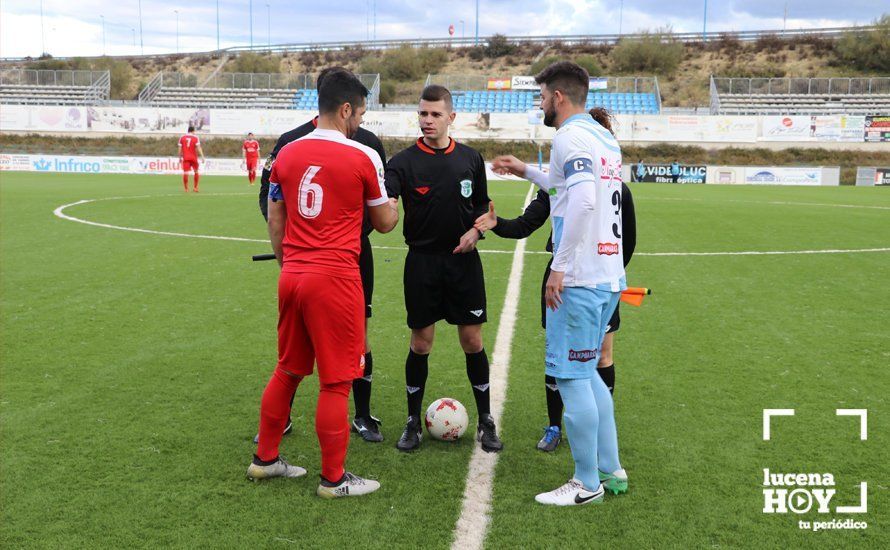
M532 200L535 187L531 186L525 196L525 204ZM507 371L510 368L510 350L513 346L513 328L516 325L516 309L519 304L519 291L522 287L522 266L525 260L525 243L516 241L513 252L513 265L507 281L504 307L501 309L498 334L494 341L490 382L491 414L500 421L507 397ZM481 445L476 445L470 458L464 497L461 502L460 517L454 526L453 550L481 549L491 518L491 490L494 482L494 468L498 461L497 453L486 453Z

